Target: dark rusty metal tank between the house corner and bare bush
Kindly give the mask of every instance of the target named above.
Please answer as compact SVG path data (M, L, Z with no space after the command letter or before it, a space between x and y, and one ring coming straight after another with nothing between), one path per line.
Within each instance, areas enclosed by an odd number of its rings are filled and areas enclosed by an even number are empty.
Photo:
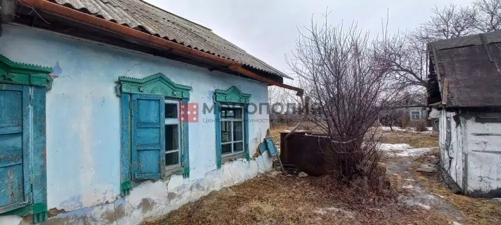
M328 139L312 136L312 132L294 132L287 140L288 132L280 133L280 159L282 163L296 165L300 171L309 175L326 174L326 157L322 149Z

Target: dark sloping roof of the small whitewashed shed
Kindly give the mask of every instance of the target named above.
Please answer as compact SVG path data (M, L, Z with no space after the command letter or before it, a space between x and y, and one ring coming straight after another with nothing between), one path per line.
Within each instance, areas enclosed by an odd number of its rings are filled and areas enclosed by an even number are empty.
M428 51L447 107L501 106L501 32L432 42Z

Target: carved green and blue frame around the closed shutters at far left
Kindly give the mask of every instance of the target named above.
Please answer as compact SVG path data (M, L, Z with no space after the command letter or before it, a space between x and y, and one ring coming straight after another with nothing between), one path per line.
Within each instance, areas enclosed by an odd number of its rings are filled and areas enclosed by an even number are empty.
M29 87L31 92L30 104L31 139L29 157L32 163L27 165L30 169L32 180L32 201L22 207L0 215L33 215L35 223L48 219L47 209L47 148L46 148L46 92L52 88L53 79L50 76L52 68L33 64L11 61L0 55L0 84L22 85ZM36 132L35 132L36 131Z

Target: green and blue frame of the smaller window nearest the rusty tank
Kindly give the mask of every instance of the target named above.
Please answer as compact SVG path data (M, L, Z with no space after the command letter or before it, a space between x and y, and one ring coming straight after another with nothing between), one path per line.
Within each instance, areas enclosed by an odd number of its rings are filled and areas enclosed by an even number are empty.
M231 86L227 90L216 89L214 91L213 101L214 101L214 112L215 112L215 131L216 131L216 165L220 169L221 165L227 161L233 161L238 158L245 158L250 160L249 150L248 150L248 104L250 101L250 94L242 93L240 89L235 86ZM237 154L222 155L221 147L221 106L225 105L236 105L243 108L243 141L244 141L244 151Z

